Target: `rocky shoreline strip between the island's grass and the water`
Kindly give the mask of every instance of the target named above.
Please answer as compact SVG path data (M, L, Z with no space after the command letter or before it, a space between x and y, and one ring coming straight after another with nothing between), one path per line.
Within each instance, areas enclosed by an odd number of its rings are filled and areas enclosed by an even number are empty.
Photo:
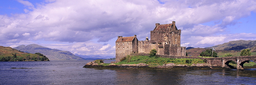
M87 63L83 67L85 67L85 68L110 68L110 69L230 69L230 68L219 67L216 65L210 65L210 64L206 64L206 63L192 64L191 66L168 63L168 64L163 64L161 66L149 67L149 65L144 64L144 63L121 64L121 65L116 65L116 64L112 63L112 64L109 64L108 66L103 66L94 61Z

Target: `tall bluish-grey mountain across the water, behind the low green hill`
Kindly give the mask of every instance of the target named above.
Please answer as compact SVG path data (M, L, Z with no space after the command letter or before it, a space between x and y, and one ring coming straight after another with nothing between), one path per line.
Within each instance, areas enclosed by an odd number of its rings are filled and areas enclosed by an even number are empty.
M50 49L37 44L20 45L14 49L20 50L27 53L41 53L45 55L49 60L84 60L83 58L74 55L69 51L62 51L58 49Z

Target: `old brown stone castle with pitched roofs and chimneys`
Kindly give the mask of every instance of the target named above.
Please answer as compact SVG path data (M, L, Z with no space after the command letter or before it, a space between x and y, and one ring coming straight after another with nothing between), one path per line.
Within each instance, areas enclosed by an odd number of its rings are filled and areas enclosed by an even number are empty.
M186 56L186 47L180 47L180 34L181 30L173 21L171 24L156 23L155 29L150 31L151 40L138 41L136 35L118 36L115 42L116 62L132 53L150 53L152 49L156 49L158 55Z

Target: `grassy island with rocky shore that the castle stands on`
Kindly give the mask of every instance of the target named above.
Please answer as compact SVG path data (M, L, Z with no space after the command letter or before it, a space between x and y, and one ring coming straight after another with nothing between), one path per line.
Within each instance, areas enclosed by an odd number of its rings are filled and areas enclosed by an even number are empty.
M95 60L87 63L87 68L146 68L146 69L230 69L207 64L202 59L174 59L156 56L129 56L127 55L118 63L103 63L104 60ZM233 65L230 63L230 65ZM256 63L245 63L244 66L255 67ZM236 65L233 65L234 67Z

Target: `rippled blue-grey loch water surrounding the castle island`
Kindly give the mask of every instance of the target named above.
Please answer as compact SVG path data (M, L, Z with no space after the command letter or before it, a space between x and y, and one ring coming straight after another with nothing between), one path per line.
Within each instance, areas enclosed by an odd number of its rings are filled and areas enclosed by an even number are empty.
M0 62L1 85L256 84L256 69L172 70L83 68L92 60ZM114 60L105 60L110 63ZM15 69L14 69L15 68Z

